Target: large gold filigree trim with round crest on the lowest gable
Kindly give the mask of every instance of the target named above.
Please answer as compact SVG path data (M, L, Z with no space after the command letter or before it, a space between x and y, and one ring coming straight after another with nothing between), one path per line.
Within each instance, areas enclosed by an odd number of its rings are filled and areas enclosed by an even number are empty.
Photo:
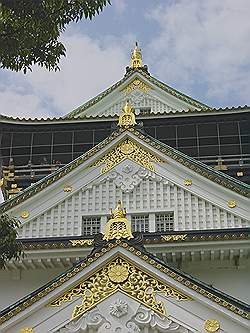
M160 315L166 315L166 310L163 302L156 300L157 293L175 298L177 301L192 300L189 296L153 277L129 261L117 257L59 296L50 303L50 306L60 306L64 302L71 302L74 297L81 296L82 304L76 305L72 313L72 319L75 319L118 290Z

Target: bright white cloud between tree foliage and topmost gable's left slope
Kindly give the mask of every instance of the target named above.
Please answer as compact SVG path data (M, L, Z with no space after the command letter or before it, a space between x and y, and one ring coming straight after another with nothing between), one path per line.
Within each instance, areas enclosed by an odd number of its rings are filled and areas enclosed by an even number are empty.
M70 112L122 77L129 63L123 45L131 39L106 36L98 41L70 30L63 36L67 57L61 71L35 67L26 75L5 73L11 84L0 83L0 113L44 117Z

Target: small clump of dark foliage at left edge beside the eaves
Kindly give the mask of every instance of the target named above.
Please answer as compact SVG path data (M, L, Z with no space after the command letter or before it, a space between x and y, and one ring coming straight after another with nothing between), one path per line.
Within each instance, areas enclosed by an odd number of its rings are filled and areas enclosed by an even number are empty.
M7 214L0 215L0 269L6 261L23 257L22 244L17 240L19 221Z

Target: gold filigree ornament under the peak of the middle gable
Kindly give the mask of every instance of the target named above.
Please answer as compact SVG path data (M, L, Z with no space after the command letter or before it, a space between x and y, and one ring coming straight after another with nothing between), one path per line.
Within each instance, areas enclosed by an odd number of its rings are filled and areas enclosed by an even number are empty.
M106 155L94 162L91 166L98 166L105 163L106 167L102 168L101 172L106 173L125 159L139 163L141 166L149 169L150 171L155 171L154 165L151 163L152 161L163 163L161 158L153 155L149 151L146 151L134 141L126 139L116 148L112 149Z

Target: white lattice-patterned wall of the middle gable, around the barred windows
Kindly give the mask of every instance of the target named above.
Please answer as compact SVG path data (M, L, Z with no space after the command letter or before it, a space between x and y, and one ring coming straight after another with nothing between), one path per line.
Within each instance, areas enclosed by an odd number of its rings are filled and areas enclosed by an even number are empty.
M103 215L106 218L118 200L122 200L128 214L174 211L175 230L247 226L246 220L163 180L143 179L132 192L124 193L113 179L106 178L69 195L60 204L24 224L19 237L81 235L82 216ZM154 228L152 225L150 230L154 231Z

